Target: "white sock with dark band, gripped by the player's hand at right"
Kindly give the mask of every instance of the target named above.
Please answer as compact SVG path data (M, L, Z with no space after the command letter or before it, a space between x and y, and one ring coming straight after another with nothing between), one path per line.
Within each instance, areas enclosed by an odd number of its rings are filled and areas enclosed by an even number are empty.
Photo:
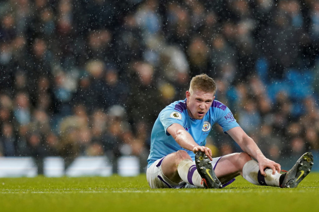
M249 160L242 168L242 176L247 181L262 186L279 187L280 175L278 172L272 174L272 169L265 170L266 177L260 174L258 163L255 160Z

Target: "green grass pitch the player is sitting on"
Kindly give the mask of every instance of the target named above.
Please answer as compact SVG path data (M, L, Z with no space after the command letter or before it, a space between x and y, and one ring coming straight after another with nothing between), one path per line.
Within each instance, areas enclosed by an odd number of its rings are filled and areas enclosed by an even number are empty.
M297 188L150 189L137 177L0 178L0 211L319 211L319 173Z

